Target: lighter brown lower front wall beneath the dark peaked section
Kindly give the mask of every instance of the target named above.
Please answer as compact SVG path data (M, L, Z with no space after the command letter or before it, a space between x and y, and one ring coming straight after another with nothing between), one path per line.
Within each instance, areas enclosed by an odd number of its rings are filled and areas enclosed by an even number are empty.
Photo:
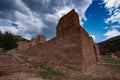
M51 66L56 70L81 72L83 63L80 45L74 42L69 44L70 42L67 43L66 41L61 43L56 38L53 38L45 43L29 48L25 54L38 56L41 63Z

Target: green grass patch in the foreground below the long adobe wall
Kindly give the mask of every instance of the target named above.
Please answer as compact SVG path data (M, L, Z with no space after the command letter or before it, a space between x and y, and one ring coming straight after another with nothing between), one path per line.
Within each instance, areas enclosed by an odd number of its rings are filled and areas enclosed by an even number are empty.
M53 68L45 66L40 62L37 62L35 60L29 61L28 58L24 56L20 56L19 58L34 67L34 71L32 72L36 75L36 77L41 77L43 79L49 80L61 80L65 78L65 75L62 72L56 71Z

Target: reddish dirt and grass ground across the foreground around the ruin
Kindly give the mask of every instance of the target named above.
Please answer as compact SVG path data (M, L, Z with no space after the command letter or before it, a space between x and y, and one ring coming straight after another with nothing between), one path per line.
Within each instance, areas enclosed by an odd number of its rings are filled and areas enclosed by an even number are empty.
M23 55L0 54L0 80L120 80L120 59L102 57L92 74L70 74L63 76Z

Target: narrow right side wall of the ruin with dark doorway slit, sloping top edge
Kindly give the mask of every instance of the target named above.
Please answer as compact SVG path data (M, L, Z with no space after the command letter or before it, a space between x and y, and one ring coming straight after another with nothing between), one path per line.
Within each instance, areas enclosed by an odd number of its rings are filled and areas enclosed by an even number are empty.
M93 38L81 27L81 46L84 57L84 72L92 72L96 63L100 60L100 53L97 44L93 42Z

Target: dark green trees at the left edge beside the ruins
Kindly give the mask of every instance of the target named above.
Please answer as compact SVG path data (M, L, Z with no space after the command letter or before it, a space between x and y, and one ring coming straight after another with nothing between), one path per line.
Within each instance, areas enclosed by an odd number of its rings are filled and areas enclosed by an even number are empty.
M13 48L17 48L19 41L28 41L21 36L15 36L12 33L5 32L2 33L0 31L0 48L3 48L4 50L11 50Z

